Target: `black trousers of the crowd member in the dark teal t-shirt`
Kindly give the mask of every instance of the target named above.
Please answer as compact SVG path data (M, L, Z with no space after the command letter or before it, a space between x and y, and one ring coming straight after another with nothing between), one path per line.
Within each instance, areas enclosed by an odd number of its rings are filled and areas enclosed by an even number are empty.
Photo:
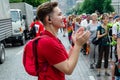
M102 58L104 57L104 68L108 68L108 59L109 59L109 46L99 45L98 47L98 61L96 68L101 68Z

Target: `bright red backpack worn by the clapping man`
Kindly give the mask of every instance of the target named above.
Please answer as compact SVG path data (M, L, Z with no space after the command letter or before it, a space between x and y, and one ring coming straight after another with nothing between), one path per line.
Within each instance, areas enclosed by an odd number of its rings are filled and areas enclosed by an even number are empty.
M37 43L41 38L45 38L47 35L36 37L27 42L23 52L23 66L26 72L32 76L38 76L38 56L37 56Z

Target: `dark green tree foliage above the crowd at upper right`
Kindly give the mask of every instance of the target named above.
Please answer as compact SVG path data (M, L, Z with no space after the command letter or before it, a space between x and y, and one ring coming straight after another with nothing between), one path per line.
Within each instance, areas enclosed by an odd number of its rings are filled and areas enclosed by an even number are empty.
M111 0L84 0L83 4L76 5L73 9L75 13L94 13L98 11L100 13L110 13L114 11L113 6L111 5Z

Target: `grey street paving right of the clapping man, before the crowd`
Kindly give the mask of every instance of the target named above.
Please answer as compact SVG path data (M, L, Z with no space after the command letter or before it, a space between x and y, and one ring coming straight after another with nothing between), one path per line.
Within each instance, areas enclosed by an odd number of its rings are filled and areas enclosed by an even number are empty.
M58 37L61 40L61 42L64 44L65 48L69 50L70 43L68 40L68 35L66 32L66 37L63 37L63 31L58 32ZM101 77L97 77L97 70L96 69L90 69L89 67L89 55L83 55L82 52L80 52L79 60L77 63L77 66L75 67L72 75L66 75L66 80L111 80L111 76L105 76L104 75L104 69L102 68L101 71ZM109 73L110 72L110 66L109 66Z

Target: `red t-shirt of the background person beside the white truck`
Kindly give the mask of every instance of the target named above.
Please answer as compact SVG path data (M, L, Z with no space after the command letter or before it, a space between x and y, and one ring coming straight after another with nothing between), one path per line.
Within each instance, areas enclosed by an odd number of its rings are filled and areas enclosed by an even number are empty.
M40 32L45 30L43 24L40 21L35 21L31 23L30 28L32 28L34 25L36 27L36 37L40 36Z

